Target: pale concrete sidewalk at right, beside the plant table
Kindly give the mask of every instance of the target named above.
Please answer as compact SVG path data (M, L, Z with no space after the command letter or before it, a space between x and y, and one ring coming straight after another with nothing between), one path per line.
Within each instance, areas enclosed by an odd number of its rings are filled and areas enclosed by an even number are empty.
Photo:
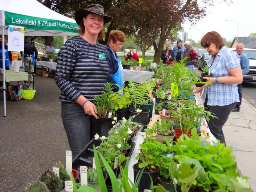
M198 93L196 97L202 103ZM234 146L239 171L256 191L256 109L243 98L240 112L231 112L223 132L227 145Z

